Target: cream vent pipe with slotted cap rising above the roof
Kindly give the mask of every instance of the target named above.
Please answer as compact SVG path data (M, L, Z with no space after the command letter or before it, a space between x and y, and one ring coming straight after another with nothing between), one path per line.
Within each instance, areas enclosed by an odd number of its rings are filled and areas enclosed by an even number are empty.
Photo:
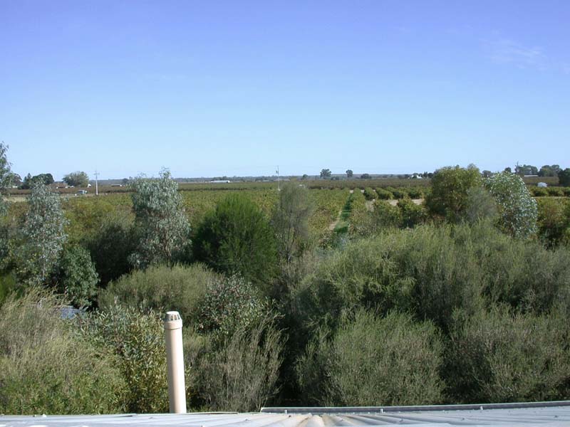
M178 312L164 317L166 362L168 368L168 400L170 413L186 413L186 386L182 354L182 318Z

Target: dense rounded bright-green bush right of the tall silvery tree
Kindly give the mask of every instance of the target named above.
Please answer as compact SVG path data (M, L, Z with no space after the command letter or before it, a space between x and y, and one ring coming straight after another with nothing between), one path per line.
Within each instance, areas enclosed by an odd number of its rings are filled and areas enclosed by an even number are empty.
M219 272L242 275L267 292L276 271L274 233L252 201L230 194L200 224L195 257Z

